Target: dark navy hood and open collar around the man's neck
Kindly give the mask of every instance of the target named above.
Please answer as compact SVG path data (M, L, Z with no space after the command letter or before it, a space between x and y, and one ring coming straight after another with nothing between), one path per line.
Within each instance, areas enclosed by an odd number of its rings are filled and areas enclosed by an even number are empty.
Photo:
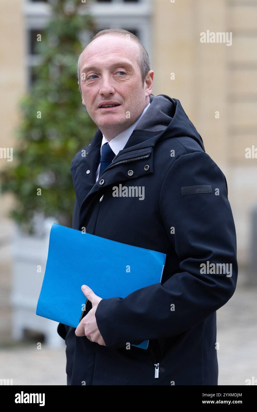
M177 140L184 137L192 138L205 152L203 140L187 117L179 100L170 98L165 94L159 94L158 96L151 94L149 98L149 108L139 120L123 150L120 150L114 157L113 163L146 155L147 153L150 154L155 145L170 138L176 138ZM85 193L90 192L92 194L99 190L98 185L95 185L95 172L102 137L100 129L97 129L92 142L81 149L71 162L73 186L80 206L83 199L85 200ZM83 152L85 152L85 156L82 155ZM153 159L151 162L153 162ZM153 166L150 165L150 167L152 169ZM127 178L127 175L124 175L125 177Z

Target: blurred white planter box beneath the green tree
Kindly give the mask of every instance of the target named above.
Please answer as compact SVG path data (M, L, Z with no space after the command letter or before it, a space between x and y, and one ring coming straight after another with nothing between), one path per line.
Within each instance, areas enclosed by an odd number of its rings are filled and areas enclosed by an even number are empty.
M12 338L21 339L24 329L44 333L45 343L50 347L65 345L57 333L58 322L36 315L38 297L45 274L48 244L54 218L42 221L42 232L29 236L16 230L12 239ZM38 267L41 266L41 272Z

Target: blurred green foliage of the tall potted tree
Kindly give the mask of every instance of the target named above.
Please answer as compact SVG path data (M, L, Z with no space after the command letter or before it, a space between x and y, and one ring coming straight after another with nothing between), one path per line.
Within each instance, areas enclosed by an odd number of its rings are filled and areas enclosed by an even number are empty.
M14 166L1 172L1 192L14 194L9 217L33 233L35 214L57 217L71 226L74 189L71 159L85 147L96 131L82 105L77 61L83 32L95 31L91 17L81 14L81 0L52 0L52 15L37 43L40 64L35 81L19 107ZM41 189L41 195L38 195Z

